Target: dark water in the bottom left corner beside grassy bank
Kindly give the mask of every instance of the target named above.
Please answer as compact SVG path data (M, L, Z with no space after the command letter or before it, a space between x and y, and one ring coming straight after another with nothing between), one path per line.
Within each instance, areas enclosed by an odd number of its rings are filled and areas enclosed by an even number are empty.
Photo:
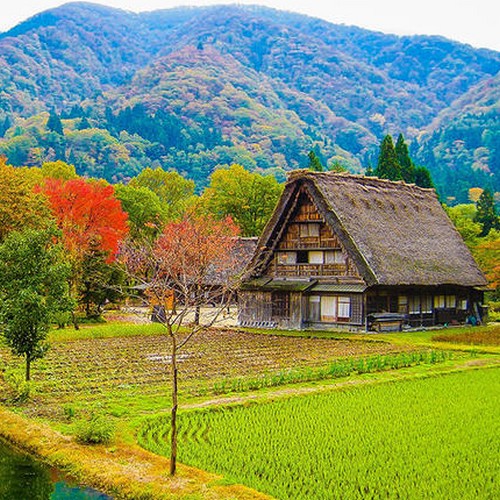
M0 500L110 500L0 440Z

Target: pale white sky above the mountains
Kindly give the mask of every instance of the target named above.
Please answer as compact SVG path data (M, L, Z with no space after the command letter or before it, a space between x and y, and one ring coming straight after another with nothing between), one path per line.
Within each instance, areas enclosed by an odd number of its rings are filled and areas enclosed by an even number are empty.
M0 31L64 3L67 2L9 1L0 7ZM259 4L384 33L441 35L476 48L500 51L498 0L98 0L94 3L133 12L185 5Z

